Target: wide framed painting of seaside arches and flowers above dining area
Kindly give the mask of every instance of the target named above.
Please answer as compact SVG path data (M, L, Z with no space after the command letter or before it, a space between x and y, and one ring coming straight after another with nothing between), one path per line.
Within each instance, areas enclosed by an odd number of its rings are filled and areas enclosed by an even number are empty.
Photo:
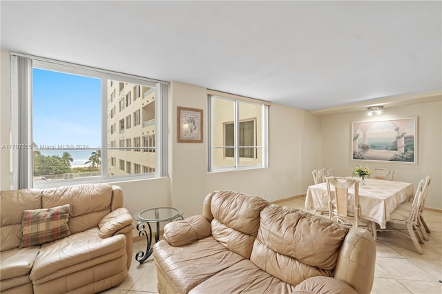
M417 117L352 123L352 160L417 164Z

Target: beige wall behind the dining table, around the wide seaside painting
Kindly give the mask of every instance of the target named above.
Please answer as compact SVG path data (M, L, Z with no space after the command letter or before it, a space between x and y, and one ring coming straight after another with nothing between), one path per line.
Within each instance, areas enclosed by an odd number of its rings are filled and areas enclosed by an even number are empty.
M416 188L425 175L432 177L425 206L442 208L442 102L433 101L407 106L385 108L382 115L368 117L367 112L347 112L323 116L321 134L323 138L323 165L334 168L335 175L349 176L358 164L394 170L394 180L411 182ZM401 117L418 117L418 164L399 162L352 161L350 157L352 121L372 121Z

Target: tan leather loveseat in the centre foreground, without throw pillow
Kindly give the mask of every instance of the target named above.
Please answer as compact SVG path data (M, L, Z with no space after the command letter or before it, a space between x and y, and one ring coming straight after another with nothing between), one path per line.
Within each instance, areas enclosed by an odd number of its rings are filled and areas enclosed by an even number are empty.
M231 191L164 226L153 248L160 293L369 293L370 233Z

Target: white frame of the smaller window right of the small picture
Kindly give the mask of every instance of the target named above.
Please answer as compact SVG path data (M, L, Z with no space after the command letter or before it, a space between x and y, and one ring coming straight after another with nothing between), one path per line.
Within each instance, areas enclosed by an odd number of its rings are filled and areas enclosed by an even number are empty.
M222 166L222 167L215 167L213 162L214 162L214 148L217 148L214 144L214 125L213 125L213 101L215 99L224 99L226 101L233 101L234 102L234 120L233 120L233 125L236 126L236 130L234 131L235 133L235 144L234 144L234 149L235 149L235 165L234 166ZM254 169L254 168L267 168L269 166L269 106L270 104L267 101L260 101L258 99L251 99L251 98L247 98L247 97L240 97L240 96L236 96L236 95L231 95L228 93L221 93L220 92L216 92L213 90L208 90L208 94L207 94L207 108L208 108L208 121L209 121L209 128L208 128L208 135L209 135L209 144L208 145L208 164L207 164L207 170L209 173L213 173L213 172L222 172L222 171L229 171L229 170L247 170L247 169ZM240 164L240 159L241 160L247 160L247 159L252 159L250 157L240 157L240 156L236 156L240 154L240 122L241 121L251 121L252 119L240 119L240 114L239 114L239 105L240 103L249 103L249 104L256 104L256 105L260 105L261 107L261 117L262 117L262 125L261 125L261 130L262 130L262 134L261 134L261 156L262 156L262 162L260 164L248 164L248 165L241 165ZM227 121L229 122L229 121ZM227 123L226 122L226 123ZM224 124L224 123L223 123ZM255 144L256 146L254 147L255 149L258 146L258 139L257 139L257 132L258 132L258 126L257 126L257 122L254 122L254 126L256 127L256 134L255 134ZM224 133L224 125L222 126L222 132ZM222 134L222 140L224 141L224 134ZM225 148L227 146L223 146L223 148ZM258 156L258 149L256 149L255 152L255 156ZM226 153L223 153L223 156L225 156Z

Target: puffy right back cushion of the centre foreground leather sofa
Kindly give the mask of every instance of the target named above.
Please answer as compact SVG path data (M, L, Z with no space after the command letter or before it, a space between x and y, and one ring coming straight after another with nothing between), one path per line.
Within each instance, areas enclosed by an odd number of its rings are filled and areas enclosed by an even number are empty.
M261 211L250 260L292 285L316 275L333 276L347 228L320 216L284 206Z

